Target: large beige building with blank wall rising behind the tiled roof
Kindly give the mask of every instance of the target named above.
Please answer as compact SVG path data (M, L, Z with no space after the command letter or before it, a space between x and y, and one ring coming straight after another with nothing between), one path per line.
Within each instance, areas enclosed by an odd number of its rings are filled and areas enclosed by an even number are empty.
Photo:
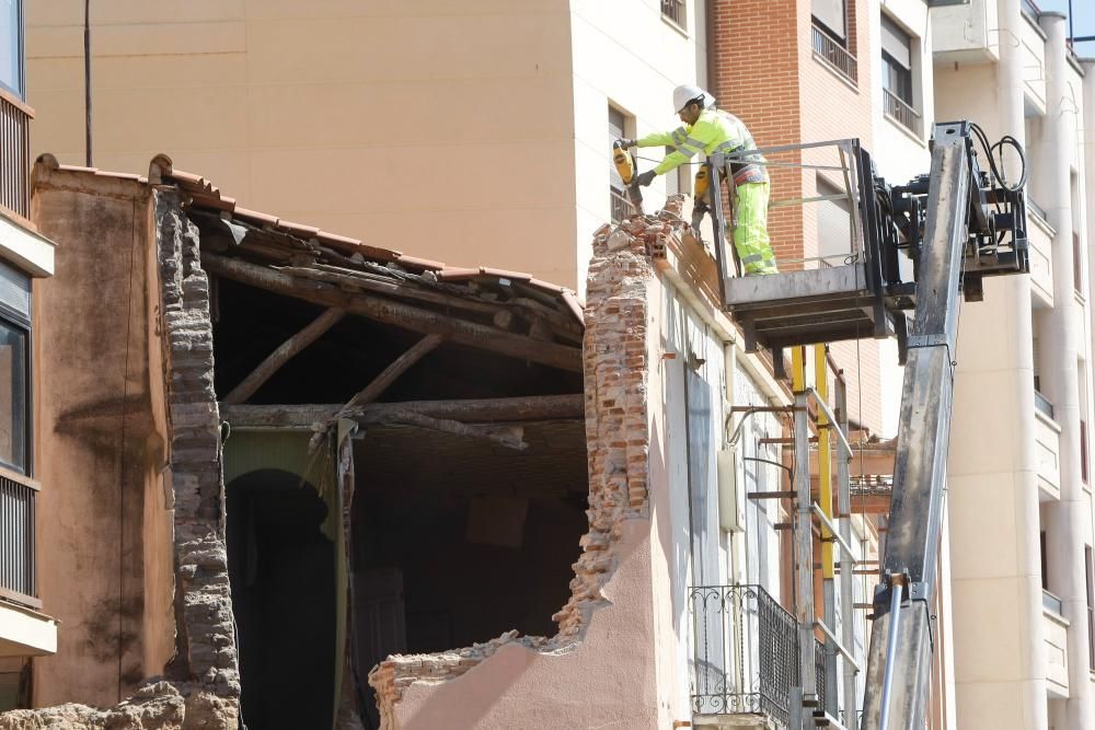
M93 3L94 165L168 152L246 208L578 288L610 215L608 105L678 126L702 8L682 30L653 0ZM82 14L27 5L32 151L66 164L84 161Z

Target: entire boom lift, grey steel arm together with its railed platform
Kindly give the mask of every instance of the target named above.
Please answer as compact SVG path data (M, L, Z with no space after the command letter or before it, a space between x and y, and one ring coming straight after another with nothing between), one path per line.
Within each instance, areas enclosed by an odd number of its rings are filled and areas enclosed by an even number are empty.
M979 166L975 136L988 157L989 171ZM747 341L751 336L753 346L772 348L777 360L782 361L781 348L826 341L830 334L831 339L848 339L889 331L904 339L891 511L874 601L861 727L919 730L924 727L935 644L931 604L943 524L959 304L964 294L969 301L981 299L986 276L1029 271L1025 173L1008 185L993 150L1011 143L1022 158L1022 149L1011 138L990 148L980 129L967 121L935 126L931 173L903 186L891 187L876 177L869 157L851 142L860 172L856 197L864 252L863 260L853 266L864 267L865 276L856 280L865 280L866 288L850 292L843 301L807 296L811 281L841 273L792 271L760 281L731 278L727 257L718 247L716 254L726 309L745 328ZM711 160L708 170L719 244L719 176L711 173L724 160ZM913 262L913 282L901 280L899 252ZM906 336L902 310L912 306ZM833 324L842 308L856 316L867 311L872 320L865 326L852 321L851 328Z

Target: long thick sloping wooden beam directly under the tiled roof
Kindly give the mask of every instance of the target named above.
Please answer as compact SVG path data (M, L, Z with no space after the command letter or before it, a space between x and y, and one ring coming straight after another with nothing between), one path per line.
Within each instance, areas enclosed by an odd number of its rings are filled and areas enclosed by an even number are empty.
M291 276L239 258L210 252L201 253L201 264L210 273L241 283L274 291L324 306L344 309L350 314L368 317L424 335L442 335L446 339L521 360L539 362L561 370L581 370L581 351L577 347L538 341L495 327L470 322L452 314L395 302L365 293L347 293L321 281L301 281Z

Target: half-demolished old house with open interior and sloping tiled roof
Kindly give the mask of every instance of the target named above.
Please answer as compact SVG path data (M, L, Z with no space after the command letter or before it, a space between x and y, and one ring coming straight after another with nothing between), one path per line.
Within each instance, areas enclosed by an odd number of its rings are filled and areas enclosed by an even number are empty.
M43 155L33 213L60 252L36 414L62 626L35 706L66 706L73 727L786 721L769 699L794 651L754 670L794 622L789 395L714 304L679 199L597 232L584 308L246 210L165 155L146 177ZM874 515L854 525L869 559Z

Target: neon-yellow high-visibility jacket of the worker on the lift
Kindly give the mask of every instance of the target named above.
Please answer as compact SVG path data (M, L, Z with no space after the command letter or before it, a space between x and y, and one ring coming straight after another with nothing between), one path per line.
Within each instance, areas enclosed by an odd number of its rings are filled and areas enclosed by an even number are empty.
M700 152L703 152L704 155L715 152L729 154L757 149L752 135L749 134L749 129L746 128L741 119L729 112L715 108L701 112L700 118L692 126L684 125L673 131L654 132L635 140L635 143L638 147L673 148L673 151L668 153L654 169L658 175L689 162ZM759 163L764 162L764 158L757 153L730 163L735 184L768 182L768 171L764 165L753 164L749 162L750 160Z

